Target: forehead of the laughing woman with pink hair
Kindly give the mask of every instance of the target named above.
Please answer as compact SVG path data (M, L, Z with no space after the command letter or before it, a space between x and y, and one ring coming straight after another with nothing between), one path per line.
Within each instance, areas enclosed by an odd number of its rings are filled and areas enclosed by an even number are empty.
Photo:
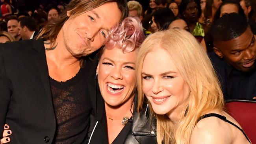
M105 48L100 59L108 57L115 62L135 62L137 51L123 52L121 48Z

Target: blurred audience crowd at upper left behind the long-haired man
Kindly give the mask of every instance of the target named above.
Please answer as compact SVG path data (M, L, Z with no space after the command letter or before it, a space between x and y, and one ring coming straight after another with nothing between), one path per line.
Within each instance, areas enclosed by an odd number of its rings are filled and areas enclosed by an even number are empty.
M1 0L0 42L34 38L45 24L66 13L65 5L63 1L52 1L24 8L17 0Z

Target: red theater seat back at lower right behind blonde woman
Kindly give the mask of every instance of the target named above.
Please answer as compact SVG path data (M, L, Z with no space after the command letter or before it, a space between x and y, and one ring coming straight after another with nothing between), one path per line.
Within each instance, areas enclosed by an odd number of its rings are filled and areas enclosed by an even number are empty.
M225 108L256 144L256 100L227 100Z

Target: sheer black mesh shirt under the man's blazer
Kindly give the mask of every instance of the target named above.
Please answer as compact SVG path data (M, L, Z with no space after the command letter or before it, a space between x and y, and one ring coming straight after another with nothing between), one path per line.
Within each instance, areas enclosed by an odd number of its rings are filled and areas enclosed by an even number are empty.
M55 144L81 144L87 138L91 104L85 94L86 70L80 68L73 78L58 82L50 78L56 116Z

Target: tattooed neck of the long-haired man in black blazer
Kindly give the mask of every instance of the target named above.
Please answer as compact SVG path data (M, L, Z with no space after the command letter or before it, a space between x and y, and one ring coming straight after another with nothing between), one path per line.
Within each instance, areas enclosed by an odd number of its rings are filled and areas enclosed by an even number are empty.
M45 48L49 48L46 50L47 59L54 61L57 66L67 66L79 63L80 59L74 57L67 50L63 41L62 29L59 31L56 41L53 43L50 43L50 41L45 41Z

